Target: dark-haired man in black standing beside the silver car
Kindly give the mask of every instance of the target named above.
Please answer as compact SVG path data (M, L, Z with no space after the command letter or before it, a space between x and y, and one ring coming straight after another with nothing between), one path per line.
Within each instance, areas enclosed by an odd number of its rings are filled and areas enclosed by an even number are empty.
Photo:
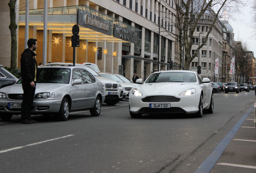
M37 40L30 38L27 41L29 48L25 49L21 54L21 78L23 89L23 101L21 104L21 124L36 123L31 120L30 110L35 95L37 62L34 51L37 48Z

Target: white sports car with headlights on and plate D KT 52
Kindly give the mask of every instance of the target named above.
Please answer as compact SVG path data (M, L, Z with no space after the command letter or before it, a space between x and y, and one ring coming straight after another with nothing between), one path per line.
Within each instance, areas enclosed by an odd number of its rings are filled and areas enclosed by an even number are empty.
M154 72L129 95L132 118L150 113L186 113L202 117L203 110L213 113L213 88L209 78L194 71Z

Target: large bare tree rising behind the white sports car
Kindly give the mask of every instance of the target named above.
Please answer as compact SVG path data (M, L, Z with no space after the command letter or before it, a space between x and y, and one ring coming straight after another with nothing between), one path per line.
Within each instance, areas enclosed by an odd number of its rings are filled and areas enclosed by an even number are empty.
M240 0L174 0L175 6L173 8L175 8L175 13L173 15L175 18L169 18L169 20L175 27L175 32L169 32L169 30L166 30L166 27L163 25L161 26L161 32L175 38L175 40L178 42L180 69L183 63L183 46L185 49L184 69L189 70L190 63L198 55L200 48L202 48L202 46L204 46L208 40L208 36L213 27L218 27L219 18L223 16L224 10L230 8L231 6L237 6L238 3L242 2ZM166 3L165 6L168 6L168 4ZM206 12L211 14L211 18L203 18L203 15ZM198 24L205 20L207 20L207 23L209 24L209 30L206 33L204 41L200 42L196 52L191 55L194 32Z

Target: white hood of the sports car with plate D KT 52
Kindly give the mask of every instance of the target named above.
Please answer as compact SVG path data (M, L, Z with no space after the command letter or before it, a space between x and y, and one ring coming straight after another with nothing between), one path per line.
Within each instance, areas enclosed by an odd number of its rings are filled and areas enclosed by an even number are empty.
M145 83L140 85L142 91L151 95L178 95L181 92L196 87L196 83L180 83L180 82L159 82L159 83Z

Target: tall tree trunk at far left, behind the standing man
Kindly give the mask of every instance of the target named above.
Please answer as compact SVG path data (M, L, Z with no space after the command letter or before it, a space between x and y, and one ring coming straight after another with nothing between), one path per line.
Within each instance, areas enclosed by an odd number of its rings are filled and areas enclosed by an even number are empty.
M15 4L17 0L10 0L8 6L10 8L10 34L11 34L11 63L10 68L14 70L17 68L17 24L16 24L16 13L15 13Z

